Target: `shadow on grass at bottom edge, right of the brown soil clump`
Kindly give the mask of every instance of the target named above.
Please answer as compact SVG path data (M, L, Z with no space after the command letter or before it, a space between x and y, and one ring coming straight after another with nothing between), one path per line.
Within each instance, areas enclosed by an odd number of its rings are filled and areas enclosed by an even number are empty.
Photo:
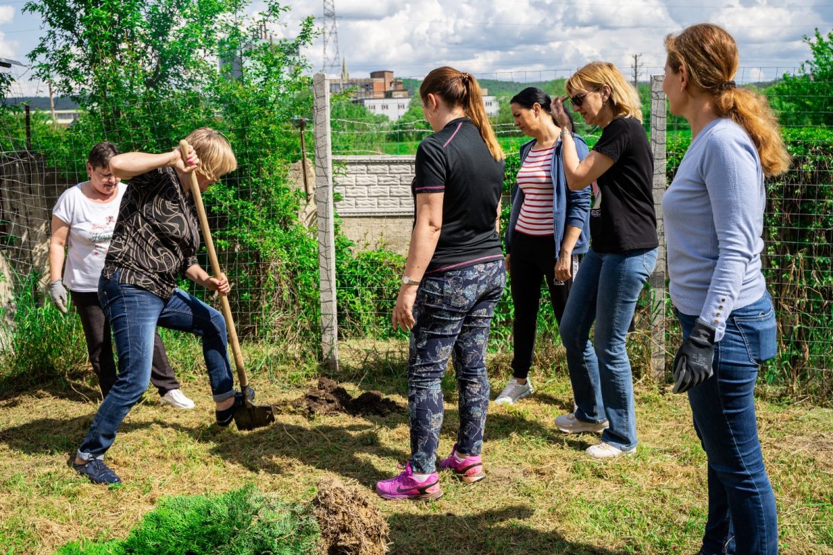
M460 516L397 513L388 518L391 555L466 555L524 553L525 555L624 555L585 543L567 541L560 533L541 532L523 521L531 508L519 505Z

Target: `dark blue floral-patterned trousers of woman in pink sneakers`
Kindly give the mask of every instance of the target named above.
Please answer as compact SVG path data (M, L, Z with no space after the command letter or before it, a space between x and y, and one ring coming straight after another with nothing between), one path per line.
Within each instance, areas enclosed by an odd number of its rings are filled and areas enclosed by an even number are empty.
M408 350L411 468L416 473L435 470L443 417L441 380L450 356L459 389L457 450L481 453L489 408L486 343L504 285L503 260L422 278Z

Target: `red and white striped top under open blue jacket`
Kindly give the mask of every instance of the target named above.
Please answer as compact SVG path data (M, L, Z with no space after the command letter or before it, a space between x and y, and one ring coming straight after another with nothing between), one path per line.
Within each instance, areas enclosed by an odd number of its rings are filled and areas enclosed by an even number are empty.
M518 170L524 193L515 230L525 235L552 235L552 154L555 146L532 149Z

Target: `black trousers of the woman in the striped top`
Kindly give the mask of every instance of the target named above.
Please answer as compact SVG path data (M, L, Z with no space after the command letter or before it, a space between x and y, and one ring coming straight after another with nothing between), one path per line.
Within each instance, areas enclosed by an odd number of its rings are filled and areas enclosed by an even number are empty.
M538 307L541 303L541 280L550 291L552 310L561 324L567 295L570 295L572 278L556 281L556 239L552 235L524 235L516 231L512 235L511 268L512 305L515 308L513 339L515 354L512 357L512 375L526 379L535 354L535 335L538 325ZM578 270L579 255L573 256L572 275Z

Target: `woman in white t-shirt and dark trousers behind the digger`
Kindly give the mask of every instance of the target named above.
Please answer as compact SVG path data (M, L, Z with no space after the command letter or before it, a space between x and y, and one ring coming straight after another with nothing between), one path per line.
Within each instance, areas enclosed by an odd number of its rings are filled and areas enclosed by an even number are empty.
M107 396L116 382L110 322L98 302L98 277L126 188L110 172L110 159L117 154L118 149L112 142L104 141L92 147L87 159L90 179L63 191L58 198L52 210L52 238L49 240L50 296L57 308L66 314L67 288L72 293L102 397ZM64 270L63 279L61 270ZM159 390L162 404L177 409L194 408L193 401L182 393L173 375L159 334L153 344L151 381Z

